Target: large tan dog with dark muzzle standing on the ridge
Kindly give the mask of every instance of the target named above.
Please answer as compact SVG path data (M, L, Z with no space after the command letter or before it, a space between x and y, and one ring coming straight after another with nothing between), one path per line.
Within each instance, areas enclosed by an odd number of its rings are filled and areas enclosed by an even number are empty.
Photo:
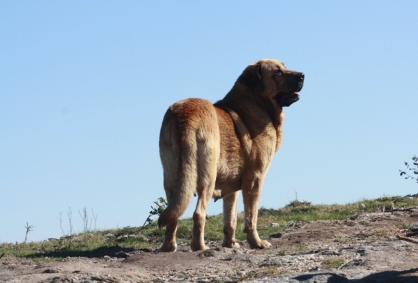
M194 192L193 251L206 250L203 231L211 197L224 200L223 247L235 243L238 191L245 206L245 233L251 248L271 247L257 233L263 179L281 144L283 107L299 100L304 74L277 60L249 65L225 98L212 104L189 98L169 107L160 132L160 157L169 205L158 225L167 227L158 252L177 248L177 220Z

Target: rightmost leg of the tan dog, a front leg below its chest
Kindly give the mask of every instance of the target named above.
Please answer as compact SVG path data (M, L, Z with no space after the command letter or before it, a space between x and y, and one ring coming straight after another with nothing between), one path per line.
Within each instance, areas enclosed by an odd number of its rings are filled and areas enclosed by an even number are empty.
M257 232L258 199L260 199L263 179L258 176L247 176L242 182L242 197L244 199L245 229L247 241L252 249L265 249L272 245L267 240L261 240Z

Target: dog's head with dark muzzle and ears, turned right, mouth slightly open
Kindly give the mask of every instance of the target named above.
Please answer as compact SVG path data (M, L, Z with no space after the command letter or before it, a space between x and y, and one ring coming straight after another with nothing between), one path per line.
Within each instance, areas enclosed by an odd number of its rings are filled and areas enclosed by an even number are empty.
M280 61L264 59L245 68L237 82L255 95L286 107L299 100L304 74L286 69Z

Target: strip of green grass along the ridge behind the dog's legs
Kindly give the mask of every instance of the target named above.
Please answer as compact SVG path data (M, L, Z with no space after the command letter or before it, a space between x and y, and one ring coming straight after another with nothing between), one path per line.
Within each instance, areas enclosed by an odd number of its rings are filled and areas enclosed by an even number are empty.
M272 234L283 232L288 222L309 222L317 220L346 220L355 219L362 213L376 213L389 211L392 202L396 208L404 206L409 208L417 206L415 200L403 197L382 197L379 199L363 199L345 205L313 205L308 201L292 201L284 208L260 208L258 213L258 234L261 238L268 238ZM270 226L271 223L279 225ZM407 227L408 224L403 224ZM178 222L178 243L189 243L192 239L193 221L191 218ZM222 240L222 215L215 215L206 220L206 240ZM238 224L235 238L245 240L243 213L238 215ZM373 235L385 236L385 231L374 231ZM367 235L372 236L372 235ZM0 243L0 257L25 257L40 261L63 259L65 257L121 257L123 252L132 250L150 249L159 247L164 238L164 230L157 227L157 223L151 222L141 231L140 227L126 227L123 229L109 229L105 231L87 231L81 234L66 236L59 239L49 239L32 243ZM336 241L346 241L336 238ZM297 252L306 247L295 247ZM271 272L271 271L268 271Z

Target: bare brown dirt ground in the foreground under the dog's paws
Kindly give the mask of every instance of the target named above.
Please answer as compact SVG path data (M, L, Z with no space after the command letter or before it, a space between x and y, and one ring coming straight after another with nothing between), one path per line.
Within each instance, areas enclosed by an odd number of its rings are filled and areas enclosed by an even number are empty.
M417 222L417 211L290 222L269 238L268 250L210 242L204 252L179 243L173 253L113 249L100 258L59 262L6 257L0 282L418 282L418 245L396 239L406 233L404 223ZM324 268L329 259L340 259L339 268Z

